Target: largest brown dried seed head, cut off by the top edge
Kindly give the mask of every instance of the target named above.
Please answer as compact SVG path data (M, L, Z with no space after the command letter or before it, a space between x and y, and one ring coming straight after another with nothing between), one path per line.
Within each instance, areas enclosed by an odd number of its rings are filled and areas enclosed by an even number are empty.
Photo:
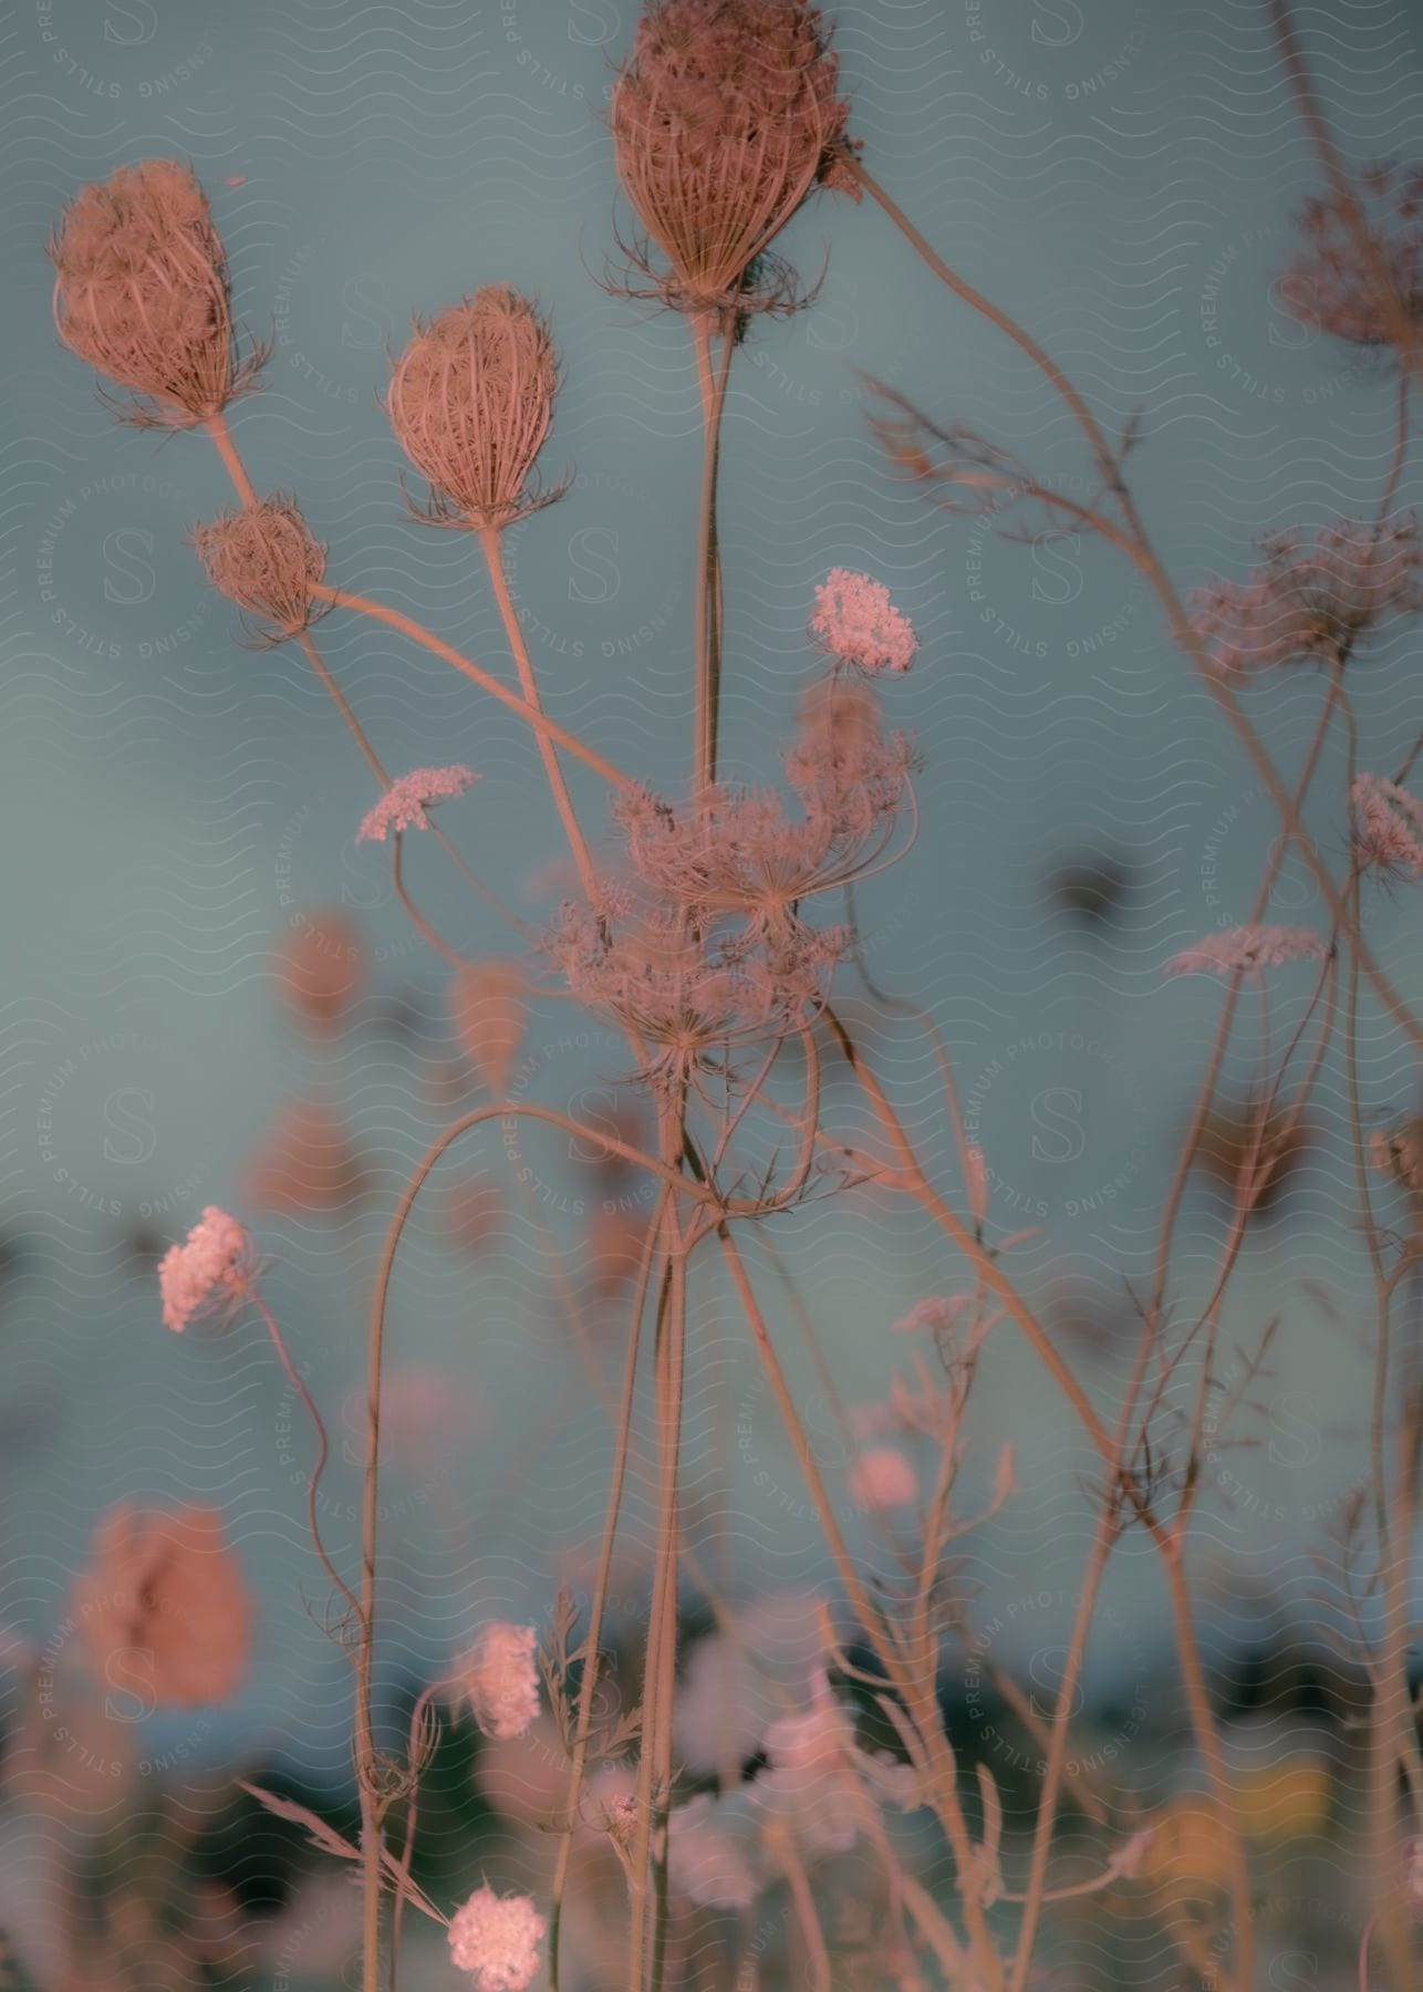
M618 177L648 235L626 251L650 285L636 295L731 319L795 309L773 239L817 185L857 193L837 92L807 0L652 0L612 94Z

